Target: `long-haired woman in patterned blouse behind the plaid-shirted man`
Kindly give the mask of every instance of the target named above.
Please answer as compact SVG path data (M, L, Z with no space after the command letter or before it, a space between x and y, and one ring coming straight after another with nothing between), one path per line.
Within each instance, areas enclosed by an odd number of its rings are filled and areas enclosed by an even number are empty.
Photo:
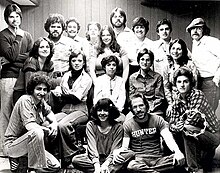
M173 83L173 74L180 67L188 67L192 71L195 78L197 86L197 77L198 70L194 62L188 57L188 50L186 43L182 39L175 39L170 43L169 47L169 63L164 67L163 70L163 83L165 97L168 102L167 115L166 118L169 118L169 113L171 106L176 99L176 94L178 93L174 83Z

